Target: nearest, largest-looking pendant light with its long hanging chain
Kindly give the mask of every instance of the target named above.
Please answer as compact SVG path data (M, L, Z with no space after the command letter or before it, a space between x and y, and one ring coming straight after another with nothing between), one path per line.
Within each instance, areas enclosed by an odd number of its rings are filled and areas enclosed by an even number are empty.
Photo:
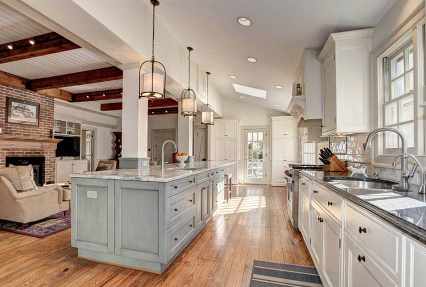
M139 99L151 100L164 99L166 90L166 69L163 64L155 61L154 39L155 39L155 7L160 5L158 0L151 0L152 4L152 57L139 67ZM141 75L142 67L149 71Z

